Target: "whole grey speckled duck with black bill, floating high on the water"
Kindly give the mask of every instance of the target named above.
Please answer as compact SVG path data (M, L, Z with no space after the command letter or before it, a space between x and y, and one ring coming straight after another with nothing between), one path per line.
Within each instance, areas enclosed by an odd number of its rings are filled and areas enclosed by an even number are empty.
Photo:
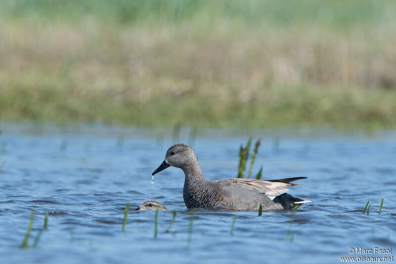
M303 203L286 192L297 184L291 183L306 177L279 180L226 179L208 181L203 176L194 150L184 144L173 145L165 160L152 175L169 166L181 168L185 174L183 188L187 208L219 208L258 211L293 209Z

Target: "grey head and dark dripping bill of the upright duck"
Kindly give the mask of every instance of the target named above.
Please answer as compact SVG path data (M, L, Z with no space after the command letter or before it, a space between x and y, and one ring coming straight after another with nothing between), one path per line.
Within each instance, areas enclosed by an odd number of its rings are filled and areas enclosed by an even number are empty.
M169 166L184 168L189 164L198 163L194 150L185 144L176 144L168 149L165 160L154 170L152 175L166 169Z

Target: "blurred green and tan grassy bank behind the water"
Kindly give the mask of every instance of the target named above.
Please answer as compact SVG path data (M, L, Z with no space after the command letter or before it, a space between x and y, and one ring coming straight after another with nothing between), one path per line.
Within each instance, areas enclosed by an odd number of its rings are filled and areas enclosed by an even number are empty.
M2 0L0 121L396 126L394 0Z

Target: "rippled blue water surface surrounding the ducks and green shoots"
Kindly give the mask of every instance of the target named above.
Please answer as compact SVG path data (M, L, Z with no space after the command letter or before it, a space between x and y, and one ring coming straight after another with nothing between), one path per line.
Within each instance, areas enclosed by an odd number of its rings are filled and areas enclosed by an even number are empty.
M209 180L237 176L239 146L247 137L222 137L221 131L210 136L178 129L170 137L158 133L161 140L152 131L122 129L2 131L1 259L6 263L338 263L342 256L360 256L349 254L351 247L396 244L395 135L268 137L255 131L263 141L252 173L262 165L263 179L307 176L304 185L289 193L312 200L296 212L263 212L258 217L257 212L204 209L192 214L183 202L184 175L177 168L164 170L150 184L151 172L163 161L175 133L181 142L194 141ZM156 239L155 211L130 211L122 232L126 204L136 208L148 200L169 209L158 212ZM370 213L363 215L368 200ZM21 250L31 210L35 216L28 250ZM48 228L42 230L46 212Z

